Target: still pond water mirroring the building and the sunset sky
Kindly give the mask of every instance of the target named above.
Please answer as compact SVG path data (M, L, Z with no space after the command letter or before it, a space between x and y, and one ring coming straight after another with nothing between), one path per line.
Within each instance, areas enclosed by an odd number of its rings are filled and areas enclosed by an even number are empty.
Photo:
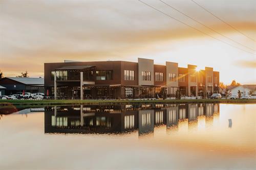
M0 107L0 169L255 169L256 104Z

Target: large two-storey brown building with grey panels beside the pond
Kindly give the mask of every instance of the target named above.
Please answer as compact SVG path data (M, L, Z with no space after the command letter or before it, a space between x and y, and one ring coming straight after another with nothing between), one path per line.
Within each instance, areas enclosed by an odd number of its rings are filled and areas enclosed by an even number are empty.
M219 72L178 63L94 61L45 63L45 91L55 99L205 98L219 92Z

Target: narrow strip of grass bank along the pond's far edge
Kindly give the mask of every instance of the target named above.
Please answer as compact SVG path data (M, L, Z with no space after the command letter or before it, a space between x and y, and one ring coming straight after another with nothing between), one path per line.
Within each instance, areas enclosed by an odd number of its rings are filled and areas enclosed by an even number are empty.
M172 104L172 103L256 103L255 99L195 99L195 100L0 100L0 106L26 105L119 105L119 104Z

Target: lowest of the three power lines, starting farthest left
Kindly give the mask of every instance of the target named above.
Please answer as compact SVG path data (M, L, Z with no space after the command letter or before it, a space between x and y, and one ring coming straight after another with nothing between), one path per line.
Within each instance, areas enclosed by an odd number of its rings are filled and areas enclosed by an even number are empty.
M174 17L168 15L168 14L166 14L165 12L160 11L159 9L157 9L157 8L155 8L155 7L153 7L153 6L148 5L147 3L142 2L141 0L138 0L138 1L141 2L142 4L148 6L148 7L151 7L152 9L154 9L154 10L156 10L156 11L158 11L158 12L160 12L160 13L166 15L166 16L168 16L169 18L172 18L172 19L174 19L174 20L176 20L176 21L182 23L183 25L185 25L185 26L187 26L187 27L189 27L189 28L191 28L191 29L194 29L194 30L196 30L196 31L198 31L198 32L200 32L200 33L202 33L202 34L204 34L204 35L207 35L207 36L209 36L209 37L211 37L211 38L214 38L214 39L216 39L216 40L218 40L218 41L221 41L221 42L223 42L223 43L225 43L225 44L227 44L227 45L230 45L230 46L232 46L232 47L234 47L234 48L237 48L237 49L239 49L239 50L241 50L241 51L244 51L244 52L246 52L246 53L250 53L250 54L252 54L252 55L255 55L254 53L251 53L251 52L248 52L248 51L246 51L246 50L243 50L242 48L239 48L239 47L237 47L237 46L234 46L234 45L232 45L232 44L229 44L229 43L227 43L227 42L225 42L225 41L222 41L222 40L220 40L220 39L218 39L218 38L215 38L215 37L213 37L213 36L211 36L211 35L209 35L209 34L207 34L207 33L204 33L204 32L202 32L202 31L200 31L200 30L198 30L198 29L196 29L196 28L194 28L194 27L192 27L192 26L189 26L189 25L187 25L185 22L182 22L182 21L180 21L180 20L178 20L178 19L176 19L176 18L174 18Z

